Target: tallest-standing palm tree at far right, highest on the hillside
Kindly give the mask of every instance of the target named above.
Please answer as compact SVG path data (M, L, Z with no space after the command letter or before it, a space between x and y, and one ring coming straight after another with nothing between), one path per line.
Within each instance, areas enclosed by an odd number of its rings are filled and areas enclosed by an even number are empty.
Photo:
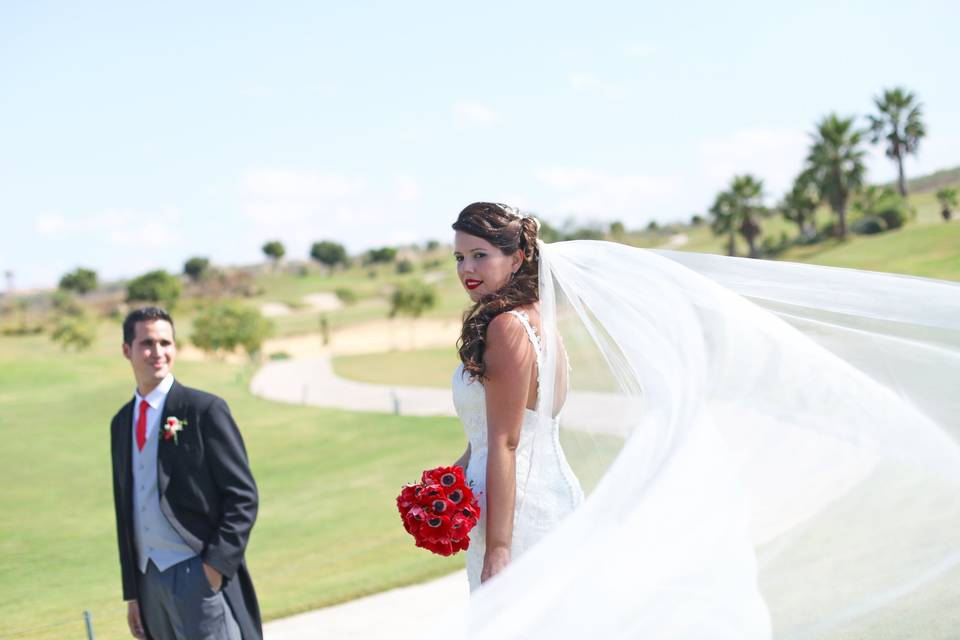
M881 139L887 141L887 157L897 163L897 186L900 195L907 197L903 158L909 153L916 154L920 138L927 135L921 120L923 105L915 102L912 93L900 87L887 89L882 97L874 98L873 102L879 111L879 115L868 116L870 129L873 131L873 144L877 144Z

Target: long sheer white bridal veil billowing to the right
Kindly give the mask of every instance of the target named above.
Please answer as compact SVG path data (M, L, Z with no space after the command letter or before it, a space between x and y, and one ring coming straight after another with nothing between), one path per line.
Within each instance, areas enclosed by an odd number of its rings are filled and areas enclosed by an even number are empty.
M953 637L960 285L540 255L530 477L562 404L587 500L475 593L468 637Z

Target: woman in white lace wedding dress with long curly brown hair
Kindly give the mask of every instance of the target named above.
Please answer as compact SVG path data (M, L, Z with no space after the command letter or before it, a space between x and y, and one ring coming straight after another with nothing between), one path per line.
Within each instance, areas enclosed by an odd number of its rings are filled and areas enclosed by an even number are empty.
M556 421L541 428L538 420L537 222L505 205L477 202L460 212L453 228L457 275L474 303L453 376L454 405L469 442L455 464L466 468L480 496L481 519L467 550L474 590L573 511L583 492L557 441ZM562 403L559 396L555 405ZM531 477L537 437L556 446Z

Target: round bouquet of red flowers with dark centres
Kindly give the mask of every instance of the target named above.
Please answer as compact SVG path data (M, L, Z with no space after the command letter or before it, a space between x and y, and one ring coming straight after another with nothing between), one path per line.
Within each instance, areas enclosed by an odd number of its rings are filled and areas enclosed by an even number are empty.
M423 472L418 484L408 484L397 496L403 528L418 547L451 556L470 546L470 530L480 519L480 506L467 486L462 467L437 467Z

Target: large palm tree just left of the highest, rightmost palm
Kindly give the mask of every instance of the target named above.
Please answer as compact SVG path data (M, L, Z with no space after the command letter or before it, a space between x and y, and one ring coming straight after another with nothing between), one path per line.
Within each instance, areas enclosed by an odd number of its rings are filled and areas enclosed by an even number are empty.
M854 127L853 118L840 118L835 113L817 123L813 144L807 155L810 176L837 216L838 233L847 237L847 204L850 195L863 186L866 167L861 147L863 131Z

